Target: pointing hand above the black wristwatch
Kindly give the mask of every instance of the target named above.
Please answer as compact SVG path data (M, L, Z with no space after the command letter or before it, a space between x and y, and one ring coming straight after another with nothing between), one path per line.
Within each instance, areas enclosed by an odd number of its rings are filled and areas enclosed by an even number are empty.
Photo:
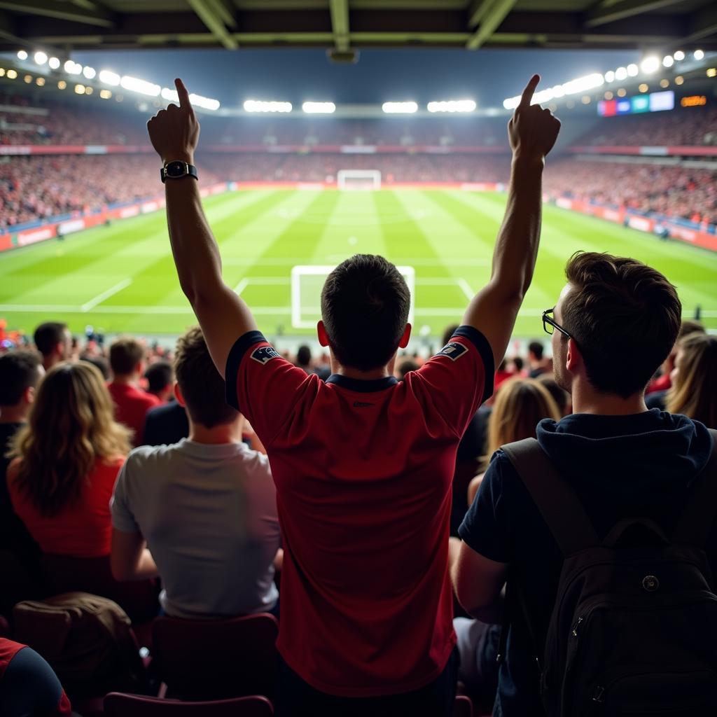
M159 110L147 123L147 131L152 146L162 162L174 159L194 163L194 150L199 142L199 122L189 102L189 92L184 82L174 80L179 95L179 107L168 105Z

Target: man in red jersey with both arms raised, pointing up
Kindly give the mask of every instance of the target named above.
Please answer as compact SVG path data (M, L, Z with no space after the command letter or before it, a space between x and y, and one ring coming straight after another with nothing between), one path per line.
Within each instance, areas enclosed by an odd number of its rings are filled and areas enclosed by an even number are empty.
M199 123L179 107L148 123L164 165L167 221L182 290L229 402L267 448L285 549L276 714L450 715L456 656L448 574L451 479L458 442L500 363L533 275L541 176L560 123L531 106L531 78L509 124L513 171L488 285L451 341L398 382L409 291L382 257L331 272L318 336L326 382L270 346L222 281L201 208Z

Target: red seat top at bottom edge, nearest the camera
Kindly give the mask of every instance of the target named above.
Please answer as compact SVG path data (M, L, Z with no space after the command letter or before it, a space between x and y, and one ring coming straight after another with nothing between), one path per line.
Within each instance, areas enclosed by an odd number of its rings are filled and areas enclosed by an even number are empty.
M106 717L271 717L272 704L252 695L233 700L179 702L111 692L105 697Z

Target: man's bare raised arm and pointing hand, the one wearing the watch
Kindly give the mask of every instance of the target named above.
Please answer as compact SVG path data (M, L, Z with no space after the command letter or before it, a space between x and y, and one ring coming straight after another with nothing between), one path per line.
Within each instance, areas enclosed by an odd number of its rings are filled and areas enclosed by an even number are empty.
M169 105L147 123L152 146L163 163L194 164L199 122L181 80L174 81L179 107ZM179 284L194 309L206 346L222 376L234 341L257 328L244 301L222 280L222 259L204 216L197 181L191 176L167 179L167 226Z

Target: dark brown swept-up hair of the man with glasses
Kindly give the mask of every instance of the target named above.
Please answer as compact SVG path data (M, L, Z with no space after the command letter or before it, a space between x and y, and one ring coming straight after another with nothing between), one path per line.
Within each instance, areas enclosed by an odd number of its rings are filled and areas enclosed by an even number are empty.
M577 343L590 384L623 398L644 389L680 330L675 287L642 262L598 252L576 252L565 274L571 289L562 324Z

